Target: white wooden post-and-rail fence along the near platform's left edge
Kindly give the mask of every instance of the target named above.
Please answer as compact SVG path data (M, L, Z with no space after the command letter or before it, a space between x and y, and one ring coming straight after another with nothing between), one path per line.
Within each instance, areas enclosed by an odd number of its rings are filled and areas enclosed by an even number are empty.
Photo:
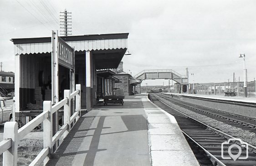
M76 108L74 114L71 116L71 99L75 98ZM52 114L58 111L64 106L64 124L52 136ZM81 116L81 85L76 85L76 91L70 93L70 90L64 90L64 99L56 103L54 106L51 105L51 101L44 101L43 112L36 118L28 122L25 126L18 130L17 122L5 122L4 126L4 139L0 142L0 154L3 153L3 166L17 166L17 153L18 143L30 133L35 127L43 122L43 141L44 148L36 156L34 161L31 162L30 166L44 164L49 160L49 156L53 153L52 147L56 141L63 135L65 138L71 130L71 123L74 120L78 120ZM77 121L76 121L77 122Z

